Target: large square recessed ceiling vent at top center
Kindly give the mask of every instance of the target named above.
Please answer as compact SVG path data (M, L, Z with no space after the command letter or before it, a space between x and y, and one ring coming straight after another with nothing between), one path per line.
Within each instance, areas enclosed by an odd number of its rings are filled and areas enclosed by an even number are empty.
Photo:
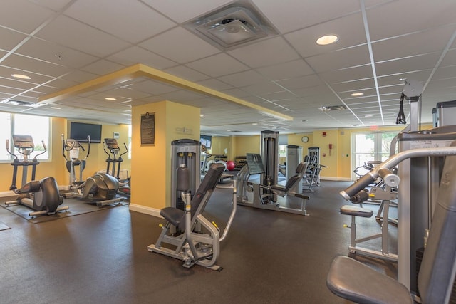
M237 1L188 21L184 26L222 50L277 34L250 1Z

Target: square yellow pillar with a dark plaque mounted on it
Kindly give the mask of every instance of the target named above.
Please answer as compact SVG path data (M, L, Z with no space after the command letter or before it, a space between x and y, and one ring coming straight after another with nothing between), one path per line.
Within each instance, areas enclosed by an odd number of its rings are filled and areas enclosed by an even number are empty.
M140 120L146 112L155 113L155 145L141 145ZM132 108L133 208L153 214L170 206L171 142L183 138L199 141L199 113L199 108L170 101Z

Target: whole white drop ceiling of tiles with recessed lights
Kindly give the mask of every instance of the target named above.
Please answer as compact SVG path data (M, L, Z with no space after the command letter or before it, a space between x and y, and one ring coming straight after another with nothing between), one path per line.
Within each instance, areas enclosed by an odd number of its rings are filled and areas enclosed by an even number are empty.
M275 33L224 49L186 24L233 1L2 0L0 111L130 124L135 105L170 100L201 108L205 134L252 135L395 125L403 78L423 84L422 123L456 100L454 0L244 3ZM325 34L338 41L318 46ZM157 73L115 74L138 64Z

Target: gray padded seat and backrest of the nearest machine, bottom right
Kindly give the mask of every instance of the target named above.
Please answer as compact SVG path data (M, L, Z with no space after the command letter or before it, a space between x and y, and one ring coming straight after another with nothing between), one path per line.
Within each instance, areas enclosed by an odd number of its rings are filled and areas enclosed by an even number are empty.
M449 302L456 271L455 231L456 156L448 156L418 273L421 303ZM413 303L404 285L346 256L334 259L326 285L334 294L356 303Z

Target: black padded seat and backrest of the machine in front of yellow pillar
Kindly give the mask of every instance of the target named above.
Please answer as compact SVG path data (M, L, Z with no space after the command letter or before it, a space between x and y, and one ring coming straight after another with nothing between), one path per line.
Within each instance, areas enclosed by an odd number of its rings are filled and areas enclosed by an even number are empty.
M203 201L206 192L214 191L217 186L217 182L224 172L224 169L225 166L222 163L214 163L209 167L209 171L207 171L206 175L204 175L204 179L201 184L199 184L199 187L190 202L190 213L192 214L192 219L195 216L199 205ZM199 212L202 213L202 210ZM165 207L160 210L160 215L169 221L173 226L176 226L180 230L185 230L185 211L175 207Z

